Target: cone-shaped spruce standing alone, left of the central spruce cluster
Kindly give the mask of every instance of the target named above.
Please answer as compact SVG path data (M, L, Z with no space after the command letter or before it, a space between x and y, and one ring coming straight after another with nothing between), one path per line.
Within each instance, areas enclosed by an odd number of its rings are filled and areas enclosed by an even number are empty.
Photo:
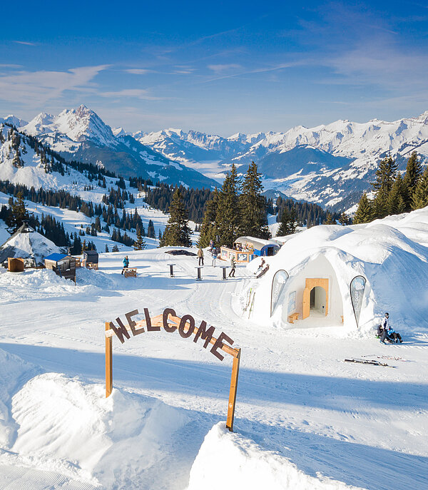
M173 200L169 207L170 217L165 228L165 232L160 240L160 247L172 245L175 247L190 247L191 230L188 227L188 212L181 200L180 190L175 189Z

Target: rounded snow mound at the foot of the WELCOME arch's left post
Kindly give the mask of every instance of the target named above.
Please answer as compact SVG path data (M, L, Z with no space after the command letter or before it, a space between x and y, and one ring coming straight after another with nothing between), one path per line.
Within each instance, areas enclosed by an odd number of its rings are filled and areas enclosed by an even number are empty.
M11 413L19 426L11 451L108 488L126 488L126 479L138 484L138 473L163 459L171 434L188 422L156 399L119 389L106 398L102 384L57 373L27 382Z

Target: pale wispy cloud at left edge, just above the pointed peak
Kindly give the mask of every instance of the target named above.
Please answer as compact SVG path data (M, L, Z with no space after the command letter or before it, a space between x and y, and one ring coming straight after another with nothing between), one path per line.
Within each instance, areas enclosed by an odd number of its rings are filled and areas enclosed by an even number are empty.
M0 76L0 98L40 106L66 91L94 91L91 83L108 65L81 66L68 71L19 71Z

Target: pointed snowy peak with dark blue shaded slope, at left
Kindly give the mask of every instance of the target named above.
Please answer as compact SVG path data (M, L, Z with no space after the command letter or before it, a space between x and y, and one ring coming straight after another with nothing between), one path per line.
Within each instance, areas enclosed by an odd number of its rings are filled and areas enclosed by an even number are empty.
M123 130L113 133L86 106L62 111L57 116L40 113L29 123L21 123L20 131L36 136L68 160L98 163L118 174L195 188L211 188L216 184L197 170L144 146Z

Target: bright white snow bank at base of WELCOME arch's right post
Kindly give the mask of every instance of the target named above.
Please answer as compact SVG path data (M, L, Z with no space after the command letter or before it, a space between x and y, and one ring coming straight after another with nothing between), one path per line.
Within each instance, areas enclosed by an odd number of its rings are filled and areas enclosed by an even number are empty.
M284 456L225 429L224 422L208 432L190 470L188 490L357 490L317 474L307 475Z

